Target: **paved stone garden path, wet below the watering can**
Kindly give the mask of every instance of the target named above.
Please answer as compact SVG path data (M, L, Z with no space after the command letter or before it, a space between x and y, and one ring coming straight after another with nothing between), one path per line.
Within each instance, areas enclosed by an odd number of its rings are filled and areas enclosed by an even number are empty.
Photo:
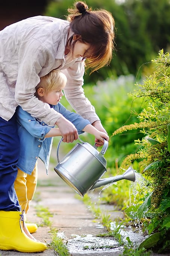
M35 207L39 205L47 208L52 214L49 217L52 228L58 230L58 236L64 238L67 248L71 256L119 256L122 255L123 247L120 247L113 238L97 237L98 234L107 233L106 229L97 222L95 216L89 211L89 208L78 199L77 195L62 179L53 171L53 166L46 175L41 161L38 162L38 184L33 202L31 202L30 210L27 214L27 221L36 223L42 222L37 216ZM90 192L93 194L93 192ZM99 200L98 196L93 196L93 200ZM110 207L101 205L103 211L111 213L112 220L121 217L123 213L119 211L110 211ZM42 242L50 243L51 233L50 227L39 226L34 237ZM136 237L133 237L135 241ZM141 239L138 236L138 239ZM105 249L100 249L104 246ZM111 246L114 249L106 249ZM92 248L93 249L84 249ZM15 251L0 251L0 256L54 256L53 249L47 249L41 253L20 253ZM152 254L156 256L156 254ZM161 255L159 255L161 256ZM170 256L170 255L166 255Z

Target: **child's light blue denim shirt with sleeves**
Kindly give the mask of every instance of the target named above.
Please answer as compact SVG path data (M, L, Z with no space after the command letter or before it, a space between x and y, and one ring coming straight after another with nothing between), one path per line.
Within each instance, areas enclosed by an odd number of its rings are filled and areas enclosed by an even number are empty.
M75 112L68 111L60 102L57 105L50 105L55 111L61 113L67 120L76 127L78 134L83 133L82 129L90 124ZM53 137L44 138L52 127L44 122L38 121L20 106L16 109L18 121L18 135L20 139L20 153L17 167L27 174L31 174L38 157L44 162L48 171L50 152Z

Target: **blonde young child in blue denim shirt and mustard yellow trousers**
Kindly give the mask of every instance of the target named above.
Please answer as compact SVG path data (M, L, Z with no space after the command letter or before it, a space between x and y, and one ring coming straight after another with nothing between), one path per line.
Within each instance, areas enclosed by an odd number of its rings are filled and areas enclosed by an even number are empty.
M59 101L64 95L62 90L67 83L67 78L60 70L52 70L40 79L37 85L35 96L44 103L48 103L49 108L62 114L76 127L78 134L83 132L91 133L103 143L103 138L109 137L104 132L97 130L90 121L84 119L75 112L68 111ZM17 164L18 175L14 186L18 196L21 210L27 213L29 202L33 199L37 185L37 159L44 162L46 171L49 166L52 140L54 136L62 136L59 128L48 126L42 121L32 117L20 106L17 108L18 135L20 139L20 153ZM26 223L30 233L37 230L34 223Z

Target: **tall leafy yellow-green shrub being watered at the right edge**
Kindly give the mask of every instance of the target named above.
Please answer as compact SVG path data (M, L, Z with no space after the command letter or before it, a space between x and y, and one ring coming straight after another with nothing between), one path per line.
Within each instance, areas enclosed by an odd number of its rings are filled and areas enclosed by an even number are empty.
M137 218L145 220L144 230L150 234L140 246L153 248L157 252L168 252L170 249L170 55L159 51L152 61L155 71L146 78L143 84L137 84L135 96L142 97L149 106L143 109L138 118L139 123L123 126L113 133L140 128L143 138L136 140L139 151L127 156L121 167L126 168L134 160L140 159L139 172L152 187L143 204L134 207ZM129 214L132 210L126 210ZM151 218L151 212L154 218ZM132 217L132 214L131 214ZM153 215L152 215L153 217Z

